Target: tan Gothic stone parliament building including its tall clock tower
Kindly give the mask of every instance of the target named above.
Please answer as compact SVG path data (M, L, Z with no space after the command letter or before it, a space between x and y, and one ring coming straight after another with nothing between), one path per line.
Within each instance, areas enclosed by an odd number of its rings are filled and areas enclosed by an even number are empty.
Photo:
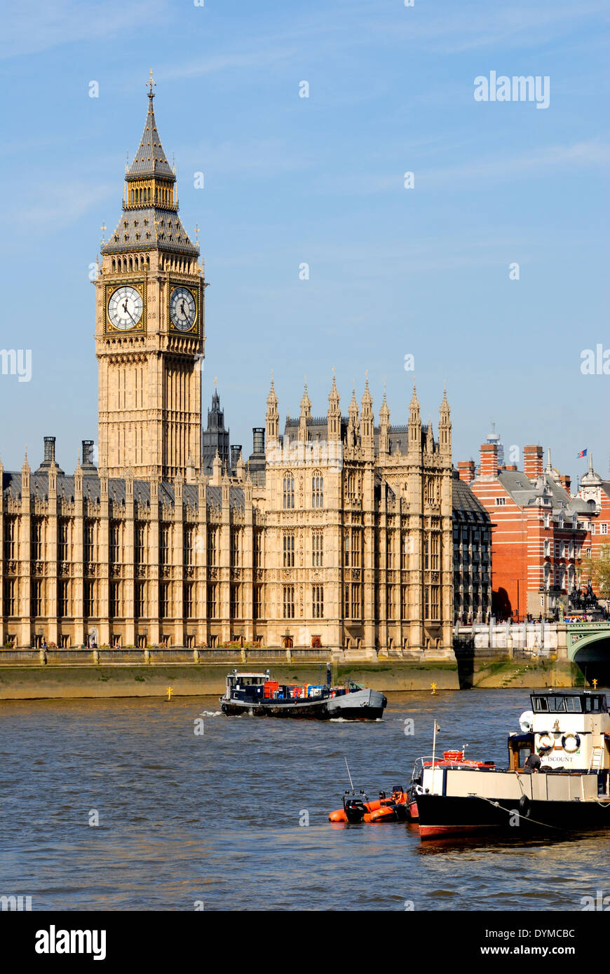
M273 382L251 456L229 451L214 393L202 431L204 262L178 216L152 81L120 219L95 280L97 466L0 467L0 645L451 653L451 421L347 415L305 387L280 426ZM76 451L75 451L76 453ZM480 615L480 607L477 607ZM484 618L484 616L483 616Z

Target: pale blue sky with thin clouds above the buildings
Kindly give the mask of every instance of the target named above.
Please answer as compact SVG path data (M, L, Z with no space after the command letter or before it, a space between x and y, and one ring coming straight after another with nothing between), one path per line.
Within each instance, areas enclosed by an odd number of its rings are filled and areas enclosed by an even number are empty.
M0 374L5 468L26 444L34 468L56 435L71 472L96 439L90 266L121 215L152 68L210 281L204 410L216 377L245 455L272 370L281 417L305 376L320 416L334 367L344 412L367 374L375 412L385 385L405 423L415 383L435 431L446 384L456 464L493 422L519 466L538 442L574 478L583 449L608 475L610 375L582 371L586 350L610 350L604 0L0 11L0 345L31 350L28 382ZM548 78L548 107L477 100L491 72Z

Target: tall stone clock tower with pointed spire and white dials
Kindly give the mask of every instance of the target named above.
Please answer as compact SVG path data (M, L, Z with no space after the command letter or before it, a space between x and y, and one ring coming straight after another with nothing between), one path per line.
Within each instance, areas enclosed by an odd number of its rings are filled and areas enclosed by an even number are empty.
M178 217L153 109L125 176L96 285L99 466L171 479L201 462L204 262Z

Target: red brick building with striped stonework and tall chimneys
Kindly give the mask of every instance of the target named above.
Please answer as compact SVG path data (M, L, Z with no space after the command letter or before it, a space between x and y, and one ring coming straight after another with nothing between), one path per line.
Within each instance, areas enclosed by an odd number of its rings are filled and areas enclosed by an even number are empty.
M550 453L543 468L539 445L524 447L522 470L499 468L498 445L489 441L480 447L477 471L474 461L459 463L458 469L493 522L493 615L553 618L572 589L584 582L582 559L596 518L593 505L570 496L570 478L553 468ZM591 482L590 489L599 488Z

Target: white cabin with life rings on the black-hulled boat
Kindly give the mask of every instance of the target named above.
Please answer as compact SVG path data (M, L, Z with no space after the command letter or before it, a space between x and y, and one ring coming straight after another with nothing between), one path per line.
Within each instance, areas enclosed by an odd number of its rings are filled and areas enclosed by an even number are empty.
M610 768L605 693L549 690L532 693L530 700L531 710L519 718L520 732L509 736L511 770L527 769L530 755L538 756L541 771Z

